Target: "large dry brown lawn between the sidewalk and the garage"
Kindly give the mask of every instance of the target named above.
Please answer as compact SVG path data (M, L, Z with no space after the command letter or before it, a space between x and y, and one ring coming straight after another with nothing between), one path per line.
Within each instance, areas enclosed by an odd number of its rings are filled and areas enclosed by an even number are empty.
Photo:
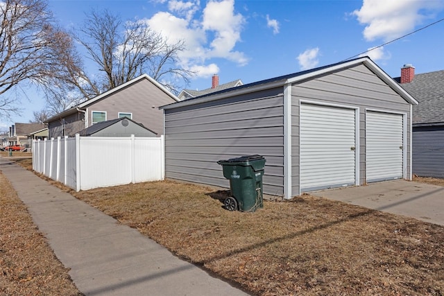
M71 193L255 295L444 294L444 227L413 218L310 195L231 212L171 181Z

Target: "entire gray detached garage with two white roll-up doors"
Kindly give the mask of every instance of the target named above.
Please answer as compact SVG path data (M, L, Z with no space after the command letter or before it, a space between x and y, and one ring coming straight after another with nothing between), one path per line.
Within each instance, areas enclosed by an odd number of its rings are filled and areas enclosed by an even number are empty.
M219 159L266 158L264 193L411 180L411 105L370 58L162 107L167 178L228 187Z

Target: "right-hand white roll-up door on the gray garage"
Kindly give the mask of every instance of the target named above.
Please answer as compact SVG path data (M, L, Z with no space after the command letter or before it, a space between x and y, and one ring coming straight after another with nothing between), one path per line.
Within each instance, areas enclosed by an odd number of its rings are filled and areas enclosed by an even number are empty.
M366 113L366 181L402 178L402 114Z

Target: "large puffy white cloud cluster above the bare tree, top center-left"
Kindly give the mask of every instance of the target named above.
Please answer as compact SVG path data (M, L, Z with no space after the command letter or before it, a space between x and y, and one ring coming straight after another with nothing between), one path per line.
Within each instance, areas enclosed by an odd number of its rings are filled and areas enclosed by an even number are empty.
M241 42L245 17L234 12L234 0L210 0L203 9L201 19L194 15L200 10L200 1L168 2L169 12L157 12L145 19L156 32L162 33L169 42L185 41L186 50L180 53L180 64L196 71L198 77L218 73L216 64L205 65L212 58L223 58L244 66L246 55L235 51Z

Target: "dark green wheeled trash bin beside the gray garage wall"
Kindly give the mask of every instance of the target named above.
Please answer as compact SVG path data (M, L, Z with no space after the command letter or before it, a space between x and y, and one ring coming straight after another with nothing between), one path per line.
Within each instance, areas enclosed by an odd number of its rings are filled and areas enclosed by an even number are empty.
M223 176L230 180L231 196L224 200L225 209L234 211L256 211L264 207L262 177L265 158L260 155L246 155L228 160L219 160Z

